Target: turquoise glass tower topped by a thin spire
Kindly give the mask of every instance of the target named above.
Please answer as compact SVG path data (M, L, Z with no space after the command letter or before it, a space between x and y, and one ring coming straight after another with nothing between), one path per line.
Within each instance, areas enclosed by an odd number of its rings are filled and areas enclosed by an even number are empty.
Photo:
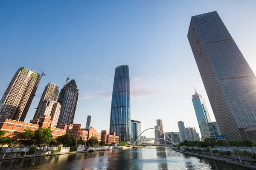
M204 138L206 136L205 131L207 130L203 128L203 120L205 120L207 123L210 123L212 121L211 121L205 100L203 99L203 96L198 94L196 90L195 90L195 94L192 95L192 102L194 105L195 115L198 121L201 136L202 138Z

